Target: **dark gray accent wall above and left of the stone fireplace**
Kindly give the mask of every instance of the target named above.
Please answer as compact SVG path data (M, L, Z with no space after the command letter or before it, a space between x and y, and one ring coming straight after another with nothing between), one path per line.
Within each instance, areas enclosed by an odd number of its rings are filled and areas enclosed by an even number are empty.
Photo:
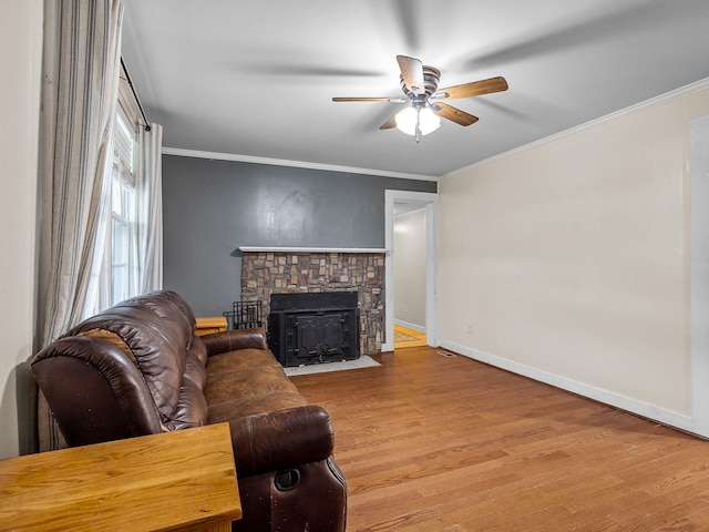
M242 296L239 246L384 247L384 191L435 182L163 155L164 287L197 316Z

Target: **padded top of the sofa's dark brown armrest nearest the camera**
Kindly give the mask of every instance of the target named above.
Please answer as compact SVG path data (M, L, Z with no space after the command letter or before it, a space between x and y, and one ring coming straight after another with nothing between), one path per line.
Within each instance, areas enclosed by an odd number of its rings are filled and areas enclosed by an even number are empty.
M335 449L330 415L319 406L248 416L229 427L239 477L325 460Z

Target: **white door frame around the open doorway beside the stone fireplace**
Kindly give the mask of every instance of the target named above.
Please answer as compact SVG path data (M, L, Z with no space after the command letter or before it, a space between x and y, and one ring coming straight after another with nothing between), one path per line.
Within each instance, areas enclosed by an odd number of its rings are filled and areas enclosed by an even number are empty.
M439 346L438 232L439 195L433 192L384 191L384 338L382 351L394 349L394 204L419 203L425 208L425 337Z

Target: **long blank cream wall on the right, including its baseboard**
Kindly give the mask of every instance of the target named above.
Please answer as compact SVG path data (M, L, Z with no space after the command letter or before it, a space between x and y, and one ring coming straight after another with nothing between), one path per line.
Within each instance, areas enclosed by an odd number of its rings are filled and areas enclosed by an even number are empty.
M701 432L689 161L707 114L703 83L442 178L441 345Z

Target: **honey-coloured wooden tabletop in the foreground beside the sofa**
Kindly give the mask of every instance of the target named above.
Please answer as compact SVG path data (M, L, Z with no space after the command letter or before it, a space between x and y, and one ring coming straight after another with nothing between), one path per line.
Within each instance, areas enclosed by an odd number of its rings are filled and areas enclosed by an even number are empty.
M227 532L226 423L0 460L0 530Z

